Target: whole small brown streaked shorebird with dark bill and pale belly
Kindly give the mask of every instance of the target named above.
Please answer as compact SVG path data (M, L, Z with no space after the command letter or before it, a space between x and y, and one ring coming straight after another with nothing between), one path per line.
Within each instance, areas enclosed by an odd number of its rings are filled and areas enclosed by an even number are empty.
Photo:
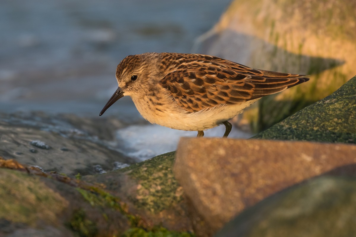
M131 96L151 123L198 131L220 124L229 135L235 117L263 96L309 78L249 68L202 54L145 53L129 55L117 66L119 88L100 115L122 96Z

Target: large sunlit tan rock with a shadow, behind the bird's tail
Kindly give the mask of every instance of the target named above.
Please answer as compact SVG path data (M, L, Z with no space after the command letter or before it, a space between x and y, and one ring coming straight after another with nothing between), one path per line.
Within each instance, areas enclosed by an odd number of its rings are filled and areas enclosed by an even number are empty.
M261 131L325 96L355 75L354 0L235 0L194 52L253 68L311 75L267 96L240 119ZM320 14L328 12L328 14ZM316 46L317 45L317 46Z

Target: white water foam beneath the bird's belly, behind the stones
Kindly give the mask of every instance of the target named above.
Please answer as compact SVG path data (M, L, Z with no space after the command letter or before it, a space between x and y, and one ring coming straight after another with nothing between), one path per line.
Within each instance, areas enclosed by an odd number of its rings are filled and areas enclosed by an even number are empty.
M206 137L221 137L225 126L221 125L205 131ZM181 137L195 137L196 131L181 131L156 124L133 125L117 130L117 148L136 161L143 161L154 156L177 149ZM250 138L252 135L232 128L229 138Z

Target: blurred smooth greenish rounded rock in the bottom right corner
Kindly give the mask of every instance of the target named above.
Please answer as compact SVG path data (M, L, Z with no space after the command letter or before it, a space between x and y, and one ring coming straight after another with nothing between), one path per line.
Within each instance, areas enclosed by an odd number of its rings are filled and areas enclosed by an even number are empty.
M215 236L355 236L355 196L355 177L318 177L248 208Z

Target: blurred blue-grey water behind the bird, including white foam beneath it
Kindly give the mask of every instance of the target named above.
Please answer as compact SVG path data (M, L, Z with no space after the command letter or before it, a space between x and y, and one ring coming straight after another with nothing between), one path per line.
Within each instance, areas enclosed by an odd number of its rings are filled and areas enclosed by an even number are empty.
M26 118L36 117L36 111L95 118L117 88L115 70L125 56L189 53L194 39L219 20L229 2L1 0L0 112L27 113ZM113 131L110 145L136 160L174 150L180 136L196 136L150 125L127 97L104 116L127 124ZM23 126L29 124L25 117ZM51 126L61 126L51 121ZM224 129L206 135L220 136ZM230 136L248 135L235 129Z

